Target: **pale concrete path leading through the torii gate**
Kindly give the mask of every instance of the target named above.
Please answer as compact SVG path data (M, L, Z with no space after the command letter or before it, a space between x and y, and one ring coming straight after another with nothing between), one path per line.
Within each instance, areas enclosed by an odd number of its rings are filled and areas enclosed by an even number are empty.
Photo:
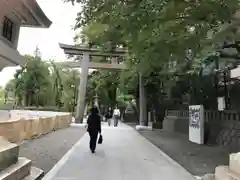
M104 127L103 137L91 154L85 134L43 180L195 180L129 126Z

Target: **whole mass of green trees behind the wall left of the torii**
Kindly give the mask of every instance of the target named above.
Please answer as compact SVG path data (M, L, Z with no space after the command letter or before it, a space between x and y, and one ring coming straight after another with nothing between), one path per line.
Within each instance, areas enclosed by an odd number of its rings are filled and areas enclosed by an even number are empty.
M25 67L18 70L5 87L5 103L32 108L74 111L79 72L67 70L54 61L42 61L36 56L25 56ZM45 108L46 109L46 108Z

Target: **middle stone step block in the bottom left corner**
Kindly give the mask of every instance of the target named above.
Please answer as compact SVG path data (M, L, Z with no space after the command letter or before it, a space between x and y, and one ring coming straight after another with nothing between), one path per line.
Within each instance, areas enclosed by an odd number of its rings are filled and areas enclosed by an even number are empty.
M26 158L18 158L16 164L9 166L0 172L0 180L21 180L30 174L31 161Z

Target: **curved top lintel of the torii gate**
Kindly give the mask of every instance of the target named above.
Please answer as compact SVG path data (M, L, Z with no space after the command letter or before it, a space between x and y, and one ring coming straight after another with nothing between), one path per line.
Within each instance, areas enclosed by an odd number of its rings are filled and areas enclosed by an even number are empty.
M59 44L60 48L64 50L65 54L69 55L83 55L88 53L90 56L105 56L105 57L122 57L126 56L128 51L125 49L116 49L115 51L103 52L98 48L89 48L86 46L74 46L67 44Z

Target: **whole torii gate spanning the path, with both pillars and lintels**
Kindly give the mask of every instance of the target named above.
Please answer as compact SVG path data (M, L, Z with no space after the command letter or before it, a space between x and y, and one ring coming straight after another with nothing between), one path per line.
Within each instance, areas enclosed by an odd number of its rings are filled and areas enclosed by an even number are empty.
M62 63L65 67L69 68L81 68L80 75L80 85L78 92L78 101L77 101L77 113L76 113L76 123L82 123L85 110L85 96L87 89L87 80L88 80L88 70L90 69L116 69L124 70L127 69L125 64L119 64L117 58L127 56L128 52L124 49L116 49L111 52L101 52L97 48L88 48L86 46L73 46L67 44L59 44L60 48L64 50L65 54L68 55L77 55L82 56L82 60L79 62L68 61ZM110 63L99 63L99 62L90 62L90 56L102 56L102 57L111 57ZM145 92L142 83L142 76L139 76L139 85L140 85L140 125L145 125L147 119L146 111L146 99Z

